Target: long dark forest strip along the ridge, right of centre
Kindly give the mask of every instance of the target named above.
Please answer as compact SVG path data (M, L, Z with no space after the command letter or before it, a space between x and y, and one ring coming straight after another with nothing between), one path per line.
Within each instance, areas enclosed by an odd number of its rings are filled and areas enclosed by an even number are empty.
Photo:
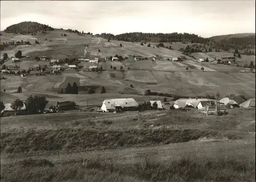
M112 39L118 41L126 41L126 42L141 42L141 41L151 41L151 42L182 42L182 41L193 41L195 43L206 43L210 41L208 38L203 38L201 36L195 34L188 33L141 33L141 32L133 32L133 33L124 33L119 35L113 35L109 33L97 34L97 36L103 37L105 39Z

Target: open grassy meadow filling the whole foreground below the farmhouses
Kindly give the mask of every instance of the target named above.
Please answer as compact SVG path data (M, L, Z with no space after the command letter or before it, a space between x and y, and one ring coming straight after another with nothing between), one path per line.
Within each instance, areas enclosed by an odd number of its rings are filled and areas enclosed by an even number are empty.
M197 110L132 113L2 118L1 180L255 178L255 110L233 109L218 117Z

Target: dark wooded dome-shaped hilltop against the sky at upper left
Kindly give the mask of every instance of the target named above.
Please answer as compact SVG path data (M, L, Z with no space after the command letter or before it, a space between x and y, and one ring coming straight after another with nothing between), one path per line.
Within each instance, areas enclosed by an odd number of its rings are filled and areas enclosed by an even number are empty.
M33 21L24 21L7 27L4 32L13 34L33 34L36 32L53 31L54 29L46 24Z

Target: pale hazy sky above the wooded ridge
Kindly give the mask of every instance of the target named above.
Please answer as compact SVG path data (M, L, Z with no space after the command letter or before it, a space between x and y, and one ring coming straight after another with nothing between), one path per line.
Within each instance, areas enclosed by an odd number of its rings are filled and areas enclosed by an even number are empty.
M22 21L112 33L255 33L255 1L1 1L1 30Z

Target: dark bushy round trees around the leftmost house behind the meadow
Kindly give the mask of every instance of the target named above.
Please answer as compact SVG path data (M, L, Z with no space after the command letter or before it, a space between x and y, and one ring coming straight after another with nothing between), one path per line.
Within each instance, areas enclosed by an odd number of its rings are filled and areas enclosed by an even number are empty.
M38 113L44 112L44 109L46 108L47 103L48 103L48 100L46 99L45 96L30 95L25 100L25 102L23 102L20 99L15 99L11 103L11 108L15 110L15 112L17 113L17 111L22 109L25 104L27 114L38 114ZM1 111L3 111L5 109L5 105L2 101L0 105L1 105Z

